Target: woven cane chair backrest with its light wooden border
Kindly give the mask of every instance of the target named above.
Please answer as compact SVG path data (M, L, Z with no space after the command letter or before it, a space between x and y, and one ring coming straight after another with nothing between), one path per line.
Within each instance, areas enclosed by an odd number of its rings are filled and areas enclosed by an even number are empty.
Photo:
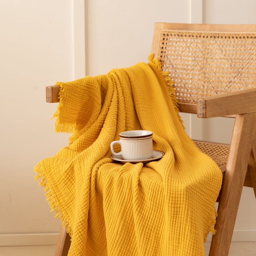
M179 103L256 86L256 27L235 30L234 25L156 23L152 52L174 81Z

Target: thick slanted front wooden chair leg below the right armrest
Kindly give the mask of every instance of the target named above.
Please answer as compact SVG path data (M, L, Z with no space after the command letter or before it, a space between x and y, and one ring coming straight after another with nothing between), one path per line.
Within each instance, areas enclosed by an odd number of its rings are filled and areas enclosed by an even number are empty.
M220 194L218 217L215 225L217 232L212 236L209 256L228 255L252 151L252 138L256 130L255 119L254 113L236 116Z

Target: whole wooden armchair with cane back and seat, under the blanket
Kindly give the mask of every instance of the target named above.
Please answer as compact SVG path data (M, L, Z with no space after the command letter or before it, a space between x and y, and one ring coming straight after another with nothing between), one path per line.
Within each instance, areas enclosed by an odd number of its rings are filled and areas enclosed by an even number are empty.
M228 255L243 186L256 195L256 25L156 23L152 53L175 83L180 112L236 118L230 145L195 141L223 172L209 255ZM46 88L47 102L58 102L58 90ZM69 243L61 229L55 255Z

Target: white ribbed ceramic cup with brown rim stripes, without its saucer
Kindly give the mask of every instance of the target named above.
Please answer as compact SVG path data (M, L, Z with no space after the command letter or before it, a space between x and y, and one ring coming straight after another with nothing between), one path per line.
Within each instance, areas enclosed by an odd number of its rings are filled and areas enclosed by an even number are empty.
M112 141L111 152L114 156L122 156L124 160L145 160L153 155L153 132L134 130L119 133L120 140ZM121 151L115 152L114 145L121 145Z

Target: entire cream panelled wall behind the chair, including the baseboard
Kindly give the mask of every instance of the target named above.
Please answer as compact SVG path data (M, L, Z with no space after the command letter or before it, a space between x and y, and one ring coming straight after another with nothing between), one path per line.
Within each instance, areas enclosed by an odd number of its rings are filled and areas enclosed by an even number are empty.
M147 62L155 22L252 23L253 5L243 1L240 11L241 1L227 0L1 1L0 245L55 243L60 228L33 180L33 166L68 143L67 134L53 133L49 119L56 104L45 102L45 86L82 77L85 70L94 76ZM195 116L184 119L192 137L210 137L198 133L212 129L208 120L191 126ZM227 131L231 126L224 125ZM212 139L229 140L217 137ZM249 204L255 212L255 200L248 200L241 202L245 211ZM253 233L255 225L247 215L236 227Z

